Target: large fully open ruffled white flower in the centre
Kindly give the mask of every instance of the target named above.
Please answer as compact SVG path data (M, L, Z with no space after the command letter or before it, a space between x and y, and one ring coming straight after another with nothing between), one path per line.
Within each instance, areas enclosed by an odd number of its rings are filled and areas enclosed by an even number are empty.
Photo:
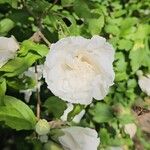
M51 45L44 77L54 95L88 105L103 99L113 85L113 47L100 36L67 37Z

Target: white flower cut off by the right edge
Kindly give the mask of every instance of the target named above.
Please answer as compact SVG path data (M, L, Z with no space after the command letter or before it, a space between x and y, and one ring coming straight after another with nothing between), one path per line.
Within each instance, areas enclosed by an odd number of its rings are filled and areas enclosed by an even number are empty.
M150 75L139 76L138 84L141 90L150 96Z

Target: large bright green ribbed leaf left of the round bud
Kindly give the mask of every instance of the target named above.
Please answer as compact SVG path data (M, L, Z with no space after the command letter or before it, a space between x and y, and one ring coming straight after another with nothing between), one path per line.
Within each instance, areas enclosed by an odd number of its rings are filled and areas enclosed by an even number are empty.
M35 127L36 117L25 103L5 96L5 106L0 107L0 121L16 130L31 130Z

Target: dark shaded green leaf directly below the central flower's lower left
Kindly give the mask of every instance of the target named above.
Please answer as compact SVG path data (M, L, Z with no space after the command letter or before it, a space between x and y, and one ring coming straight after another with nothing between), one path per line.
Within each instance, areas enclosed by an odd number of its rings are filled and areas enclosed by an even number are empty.
M67 108L67 105L60 98L52 96L45 101L44 107L46 107L49 113L52 113L55 118L60 118Z

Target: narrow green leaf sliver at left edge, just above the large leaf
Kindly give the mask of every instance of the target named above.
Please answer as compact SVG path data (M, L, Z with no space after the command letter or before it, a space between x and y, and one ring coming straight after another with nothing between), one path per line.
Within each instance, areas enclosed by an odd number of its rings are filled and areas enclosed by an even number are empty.
M6 80L0 79L0 106L4 105L5 92L6 92Z

